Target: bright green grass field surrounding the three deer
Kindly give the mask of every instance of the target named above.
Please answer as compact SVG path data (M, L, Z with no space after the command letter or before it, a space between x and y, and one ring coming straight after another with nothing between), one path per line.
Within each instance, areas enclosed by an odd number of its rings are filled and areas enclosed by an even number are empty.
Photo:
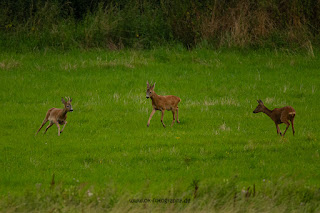
M13 198L0 210L31 210L18 201L50 194L54 174L63 190L84 186L116 200L186 197L203 208L215 206L208 196L218 199L219 187L232 202L230 187L240 196L255 184L262 203L292 188L273 205L320 211L319 68L318 54L253 50L2 52L0 194ZM181 98L180 124L171 128L165 112L163 128L157 112L147 128L147 80L158 95ZM53 126L35 136L65 96L74 112L64 132L58 137ZM293 106L295 136L291 127L278 136L269 117L253 114L257 99L271 109Z

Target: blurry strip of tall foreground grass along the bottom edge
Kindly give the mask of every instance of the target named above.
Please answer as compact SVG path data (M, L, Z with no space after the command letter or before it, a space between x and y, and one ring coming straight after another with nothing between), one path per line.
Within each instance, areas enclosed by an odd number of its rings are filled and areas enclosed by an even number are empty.
M111 186L97 190L87 184L37 185L37 190L23 196L9 195L1 199L0 211L318 212L320 209L319 190L301 187L301 183L291 179L265 182L258 189L251 187L239 188L235 177L230 182L200 188L197 197L193 197L191 190L182 194L168 192L160 197L144 193L119 196Z

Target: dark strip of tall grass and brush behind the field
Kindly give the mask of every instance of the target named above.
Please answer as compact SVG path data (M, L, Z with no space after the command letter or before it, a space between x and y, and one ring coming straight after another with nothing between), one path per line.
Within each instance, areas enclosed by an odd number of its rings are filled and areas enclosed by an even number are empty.
M320 0L1 0L1 48L303 47Z

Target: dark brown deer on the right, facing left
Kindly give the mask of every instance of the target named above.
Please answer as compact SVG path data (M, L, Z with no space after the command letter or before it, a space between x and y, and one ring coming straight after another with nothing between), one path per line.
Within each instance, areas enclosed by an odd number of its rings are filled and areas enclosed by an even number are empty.
M253 111L253 113L258 113L258 112L263 112L266 115L268 115L276 124L277 127L277 134L280 134L281 136L284 136L286 134L291 121L292 124L292 132L294 135L294 125L293 125L293 120L294 117L296 116L296 111L293 109L291 106L285 106L282 108L275 108L274 110L269 110L267 107L264 106L263 102L261 100L258 101L258 106L257 108ZM285 123L287 125L286 130L284 131L283 135L281 134L279 124Z

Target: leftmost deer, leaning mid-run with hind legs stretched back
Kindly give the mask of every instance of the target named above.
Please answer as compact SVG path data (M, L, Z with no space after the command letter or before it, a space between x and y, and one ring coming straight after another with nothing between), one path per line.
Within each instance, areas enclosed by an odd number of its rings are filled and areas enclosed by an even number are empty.
M45 119L43 120L40 128L38 129L36 135L38 134L38 132L40 131L40 129L48 122L50 121L49 125L47 126L46 130L44 131L43 134L45 134L47 132L47 130L53 125L56 124L58 127L58 136L60 136L60 133L63 132L66 124L67 124L67 113L68 112L72 112L72 106L71 106L71 101L72 98L66 98L63 99L61 98L61 102L64 104L64 108L63 109L58 109L58 108L51 108L48 110L47 115L45 117ZM60 125L59 124L63 124L63 128L60 131Z

